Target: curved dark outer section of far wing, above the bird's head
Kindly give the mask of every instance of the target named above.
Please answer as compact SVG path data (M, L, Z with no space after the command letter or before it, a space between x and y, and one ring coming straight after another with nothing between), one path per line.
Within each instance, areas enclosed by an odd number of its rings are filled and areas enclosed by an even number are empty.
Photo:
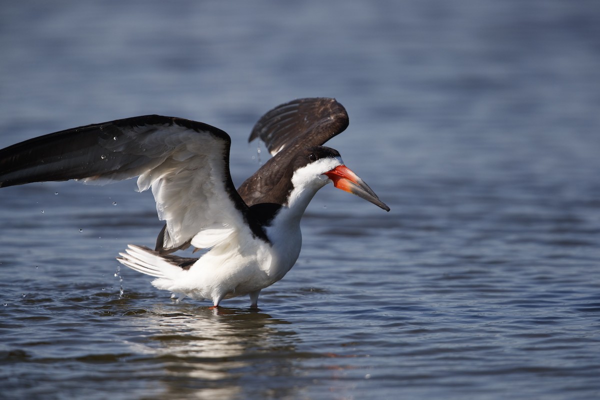
M281 104L254 125L248 142L259 138L271 155L295 146L321 146L348 127L346 109L334 98L300 98Z

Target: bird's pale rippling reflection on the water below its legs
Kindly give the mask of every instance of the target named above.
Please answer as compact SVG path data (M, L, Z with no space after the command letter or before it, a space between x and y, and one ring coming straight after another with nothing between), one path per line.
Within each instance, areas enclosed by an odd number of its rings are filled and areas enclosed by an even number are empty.
M134 351L158 363L149 373L164 398L288 396L294 389L281 383L298 357L310 357L296 352L295 332L280 329L287 321L262 312L166 304L131 314L146 330Z

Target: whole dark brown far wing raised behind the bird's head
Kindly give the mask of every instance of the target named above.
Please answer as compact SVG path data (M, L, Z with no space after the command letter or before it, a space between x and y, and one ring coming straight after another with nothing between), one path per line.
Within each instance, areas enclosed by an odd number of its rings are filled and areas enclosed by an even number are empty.
M348 126L346 109L334 98L301 98L275 107L254 125L250 142L260 138L273 155L238 188L248 206L277 204L274 185L289 183L288 166L298 152L321 146ZM287 175L286 175L287 174ZM278 183L277 183L278 182Z

